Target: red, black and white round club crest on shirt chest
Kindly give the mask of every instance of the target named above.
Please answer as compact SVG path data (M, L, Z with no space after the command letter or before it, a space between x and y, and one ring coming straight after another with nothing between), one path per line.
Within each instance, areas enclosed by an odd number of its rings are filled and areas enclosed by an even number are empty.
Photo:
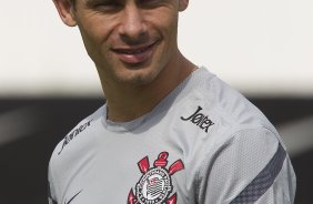
M176 193L171 195L173 192L171 176L183 170L184 165L178 160L168 170L168 152L161 152L153 167L150 167L148 156L138 162L142 176L135 185L135 194L133 190L130 191L128 204L176 204Z

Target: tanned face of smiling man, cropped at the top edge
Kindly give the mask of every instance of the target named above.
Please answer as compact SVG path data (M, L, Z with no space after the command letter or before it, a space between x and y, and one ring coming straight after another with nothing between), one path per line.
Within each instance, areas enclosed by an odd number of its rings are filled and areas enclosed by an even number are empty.
M104 83L147 84L175 63L182 2L77 0L72 16Z

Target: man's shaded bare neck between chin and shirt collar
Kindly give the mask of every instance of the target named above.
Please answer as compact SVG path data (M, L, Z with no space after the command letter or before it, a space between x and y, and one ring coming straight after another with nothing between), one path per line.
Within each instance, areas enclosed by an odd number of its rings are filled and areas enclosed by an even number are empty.
M181 55L174 64L164 68L149 84L103 84L107 96L107 118L115 122L127 122L150 112L162 99L174 90L195 65ZM102 80L101 80L102 81Z

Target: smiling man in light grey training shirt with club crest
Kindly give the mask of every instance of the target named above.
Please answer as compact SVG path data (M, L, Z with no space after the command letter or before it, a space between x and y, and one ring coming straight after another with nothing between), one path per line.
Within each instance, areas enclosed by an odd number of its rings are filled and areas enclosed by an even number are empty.
M293 203L272 124L179 51L189 0L53 1L79 27L107 102L55 147L50 203Z

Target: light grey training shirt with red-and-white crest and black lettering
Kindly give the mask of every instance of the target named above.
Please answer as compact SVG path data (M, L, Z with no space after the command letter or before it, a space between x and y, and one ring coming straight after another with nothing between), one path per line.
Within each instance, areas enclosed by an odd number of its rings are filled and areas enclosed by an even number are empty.
M105 104L55 147L50 204L290 204L295 175L266 118L199 68L150 113L107 120Z

